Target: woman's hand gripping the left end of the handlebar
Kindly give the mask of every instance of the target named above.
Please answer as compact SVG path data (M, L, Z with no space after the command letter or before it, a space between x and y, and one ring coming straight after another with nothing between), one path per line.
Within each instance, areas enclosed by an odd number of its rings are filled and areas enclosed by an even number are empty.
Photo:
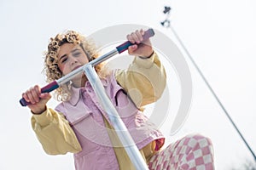
M31 109L34 114L41 114L46 110L46 103L51 98L49 93L41 94L41 88L36 85L22 94L22 97L30 102L27 107Z

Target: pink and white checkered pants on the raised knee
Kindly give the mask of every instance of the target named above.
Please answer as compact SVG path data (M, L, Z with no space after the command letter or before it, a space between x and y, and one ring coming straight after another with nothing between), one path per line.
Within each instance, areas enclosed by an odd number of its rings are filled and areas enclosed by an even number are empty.
M148 161L154 170L214 170L212 142L199 134L188 135L160 150Z

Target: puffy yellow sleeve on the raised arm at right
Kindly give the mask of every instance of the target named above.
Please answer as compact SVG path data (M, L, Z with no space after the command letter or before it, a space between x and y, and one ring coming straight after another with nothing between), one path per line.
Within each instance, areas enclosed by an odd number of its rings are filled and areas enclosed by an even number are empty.
M115 77L137 108L160 99L166 88L166 71L156 53L147 59L135 57L129 68L116 71Z

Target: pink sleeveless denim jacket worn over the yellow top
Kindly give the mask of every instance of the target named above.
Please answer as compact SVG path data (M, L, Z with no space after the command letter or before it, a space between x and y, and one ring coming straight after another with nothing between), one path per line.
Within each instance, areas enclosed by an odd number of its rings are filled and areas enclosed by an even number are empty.
M143 112L139 111L127 97L123 88L116 82L114 72L102 79L102 84L139 150L155 139L164 138L157 127L148 122ZM102 118L104 115L108 120L108 116L97 101L90 82L86 82L84 88L72 90L72 98L57 105L55 110L66 116L81 144L82 150L74 154L76 169L119 169L112 142Z

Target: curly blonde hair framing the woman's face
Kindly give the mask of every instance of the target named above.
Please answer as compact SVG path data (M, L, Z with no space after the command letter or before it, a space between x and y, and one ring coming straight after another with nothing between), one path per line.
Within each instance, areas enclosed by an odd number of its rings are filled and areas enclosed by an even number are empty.
M90 58L89 61L96 59L99 56L96 51L95 43L92 40L87 40L84 36L79 34L79 32L65 31L57 34L55 38L50 38L48 50L44 53L44 74L47 77L47 82L53 82L64 76L58 67L57 57L60 47L64 43L78 44L84 50L84 53ZM98 74L101 70L102 64L96 65L96 71ZM61 85L60 88L57 88L55 90L55 99L58 101L67 101L70 99L70 84L71 82L67 82L66 84Z

